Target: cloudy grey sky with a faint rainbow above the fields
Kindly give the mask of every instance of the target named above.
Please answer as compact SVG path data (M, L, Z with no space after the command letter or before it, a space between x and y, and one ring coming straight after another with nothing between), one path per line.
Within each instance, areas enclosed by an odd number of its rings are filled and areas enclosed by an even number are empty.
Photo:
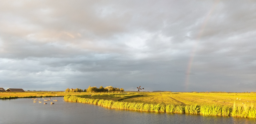
M252 0L0 0L0 87L256 91Z

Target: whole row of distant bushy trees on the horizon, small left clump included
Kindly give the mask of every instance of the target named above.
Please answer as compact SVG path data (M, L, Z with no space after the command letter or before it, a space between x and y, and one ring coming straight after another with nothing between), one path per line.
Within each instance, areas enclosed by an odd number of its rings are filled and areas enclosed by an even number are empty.
M89 86L87 89L84 89L84 90L78 89L78 88L76 88L76 89L67 88L65 90L65 92L89 92L89 93L92 93L92 92L123 92L123 91L124 91L123 88L119 89L119 88L115 88L113 86L107 86L105 88L103 86L100 86L100 88L97 88L96 86L94 86L94 87Z

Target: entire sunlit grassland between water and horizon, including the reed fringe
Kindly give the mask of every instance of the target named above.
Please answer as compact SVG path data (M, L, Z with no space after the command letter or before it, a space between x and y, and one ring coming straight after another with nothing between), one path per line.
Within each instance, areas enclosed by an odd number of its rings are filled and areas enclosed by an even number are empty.
M0 99L64 96L68 102L161 113L256 118L256 93L205 92L1 92Z

